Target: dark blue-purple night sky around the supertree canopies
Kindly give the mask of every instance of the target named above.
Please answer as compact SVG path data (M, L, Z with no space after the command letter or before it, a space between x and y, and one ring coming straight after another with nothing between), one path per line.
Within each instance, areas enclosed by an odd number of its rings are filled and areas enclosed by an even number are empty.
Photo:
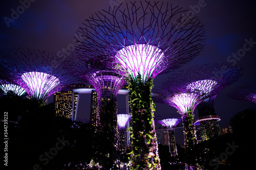
M21 2L29 1L22 0ZM26 7L22 7L22 3L18 0L1 1L0 48L28 47L61 54L65 49L72 47L75 31L82 25L84 19L101 9L108 9L111 4L117 5L121 2L129 1L35 0L30 4L24 3ZM244 68L245 75L243 78L224 88L215 100L217 115L221 116L219 124L221 127L225 127L233 114L249 107L255 107L255 104L251 102L228 99L226 94L233 87L255 80L256 5L253 4L254 1L234 0L168 2L172 3L173 6L179 5L189 11L194 10L196 16L204 23L206 30L207 39L204 50L183 68L213 62L227 62L228 59L230 63ZM15 15L14 13L17 11L20 14ZM13 17L13 22L8 23L7 17L9 19ZM248 41L251 41L251 46L245 45ZM241 52L244 47L250 47L250 49L242 54L241 58L229 57L233 53ZM158 75L154 80L155 87L163 83L166 76L168 75ZM156 115L169 112L176 112L176 109L164 104L156 104ZM197 117L197 109L195 114ZM181 130L178 130L178 133L182 133L179 131ZM181 138L180 141L182 140Z

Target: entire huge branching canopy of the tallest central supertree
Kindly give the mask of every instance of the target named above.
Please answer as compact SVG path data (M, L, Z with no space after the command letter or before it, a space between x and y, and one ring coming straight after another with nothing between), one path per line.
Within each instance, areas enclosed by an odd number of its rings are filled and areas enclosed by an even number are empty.
M102 10L83 23L75 37L79 55L102 57L143 82L192 60L203 47L200 20L182 17L180 7L130 2Z

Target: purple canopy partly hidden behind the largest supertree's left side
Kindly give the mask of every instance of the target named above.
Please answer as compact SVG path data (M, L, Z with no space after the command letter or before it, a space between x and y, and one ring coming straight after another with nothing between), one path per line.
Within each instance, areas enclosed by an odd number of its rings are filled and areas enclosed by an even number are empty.
M73 53L73 55L76 55ZM98 100L101 96L113 94L116 99L118 91L124 85L125 78L123 72L104 65L98 59L87 59L86 57L76 56L70 58L73 70L83 83L90 82L97 91Z

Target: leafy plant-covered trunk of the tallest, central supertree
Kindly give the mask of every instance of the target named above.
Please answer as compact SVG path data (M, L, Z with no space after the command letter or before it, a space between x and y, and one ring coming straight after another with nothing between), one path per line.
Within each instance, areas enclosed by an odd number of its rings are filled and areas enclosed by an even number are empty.
M151 98L153 79L130 81L132 158L130 169L161 169Z

